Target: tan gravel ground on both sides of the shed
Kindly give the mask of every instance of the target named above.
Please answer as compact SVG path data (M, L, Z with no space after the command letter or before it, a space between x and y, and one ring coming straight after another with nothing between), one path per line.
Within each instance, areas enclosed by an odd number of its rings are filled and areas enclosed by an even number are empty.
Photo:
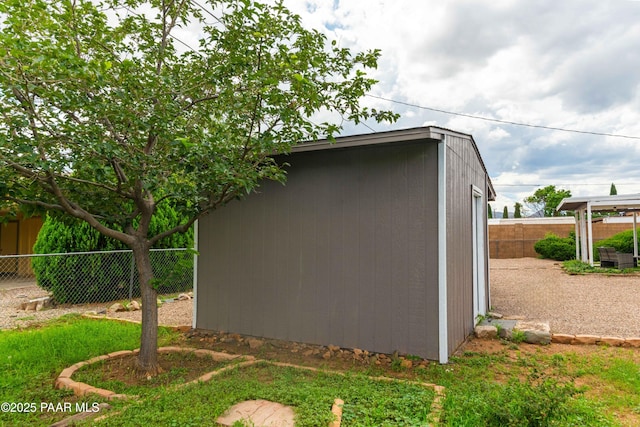
M555 261L534 258L491 260L491 305L506 317L548 321L553 333L640 337L640 276L562 272ZM19 310L21 302L46 295L37 286L0 289L0 329L26 326L66 313L104 310L108 304ZM193 300L163 304L160 324L190 326ZM109 313L140 320L140 312Z

